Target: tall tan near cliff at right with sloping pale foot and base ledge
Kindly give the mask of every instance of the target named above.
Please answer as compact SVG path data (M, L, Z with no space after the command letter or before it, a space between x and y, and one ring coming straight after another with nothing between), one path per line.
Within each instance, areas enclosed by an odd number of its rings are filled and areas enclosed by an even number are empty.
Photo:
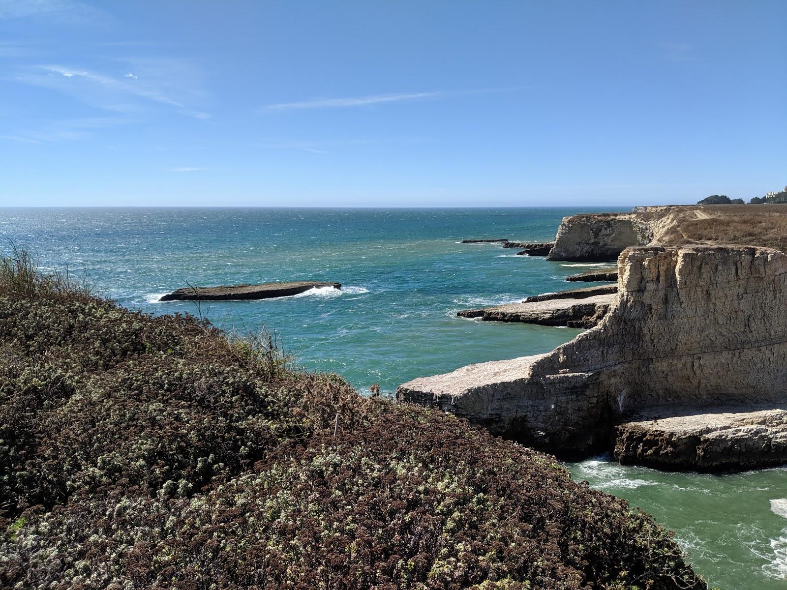
M719 470L787 462L785 445L773 444L784 421L768 422L759 447L746 444L750 429L733 427L747 423L747 408L787 402L787 255L737 245L641 246L619 256L618 275L617 301L604 319L567 344L417 378L397 389L397 399L569 457L610 451L627 436L619 455L628 463ZM645 435L637 442L631 427L619 429L675 407L683 415L734 407L726 412L730 427L716 430L741 452L722 463L696 459L702 437L712 435L696 432L683 437L695 442L691 452L680 450L682 459L667 459L663 444L660 459ZM715 415L724 422L724 412Z

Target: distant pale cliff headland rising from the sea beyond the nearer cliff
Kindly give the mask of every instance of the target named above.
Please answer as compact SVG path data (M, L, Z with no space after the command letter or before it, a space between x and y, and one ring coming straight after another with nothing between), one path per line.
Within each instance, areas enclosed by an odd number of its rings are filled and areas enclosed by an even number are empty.
M632 213L563 218L548 260L614 260L624 249L652 240L647 223Z

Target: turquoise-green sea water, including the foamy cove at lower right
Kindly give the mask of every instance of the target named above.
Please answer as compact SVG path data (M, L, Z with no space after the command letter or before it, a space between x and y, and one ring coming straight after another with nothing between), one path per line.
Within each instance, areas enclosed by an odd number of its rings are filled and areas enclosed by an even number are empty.
M545 241L563 216L602 210L610 209L0 208L0 249L10 239L38 253L42 267L84 267L98 293L129 308L201 313L238 332L268 326L302 367L393 393L420 375L546 352L578 334L456 312L566 289L566 275L598 265L457 242ZM187 284L306 279L343 288L201 308L157 302ZM787 588L787 471L662 474L604 459L569 467L675 529L711 584Z

